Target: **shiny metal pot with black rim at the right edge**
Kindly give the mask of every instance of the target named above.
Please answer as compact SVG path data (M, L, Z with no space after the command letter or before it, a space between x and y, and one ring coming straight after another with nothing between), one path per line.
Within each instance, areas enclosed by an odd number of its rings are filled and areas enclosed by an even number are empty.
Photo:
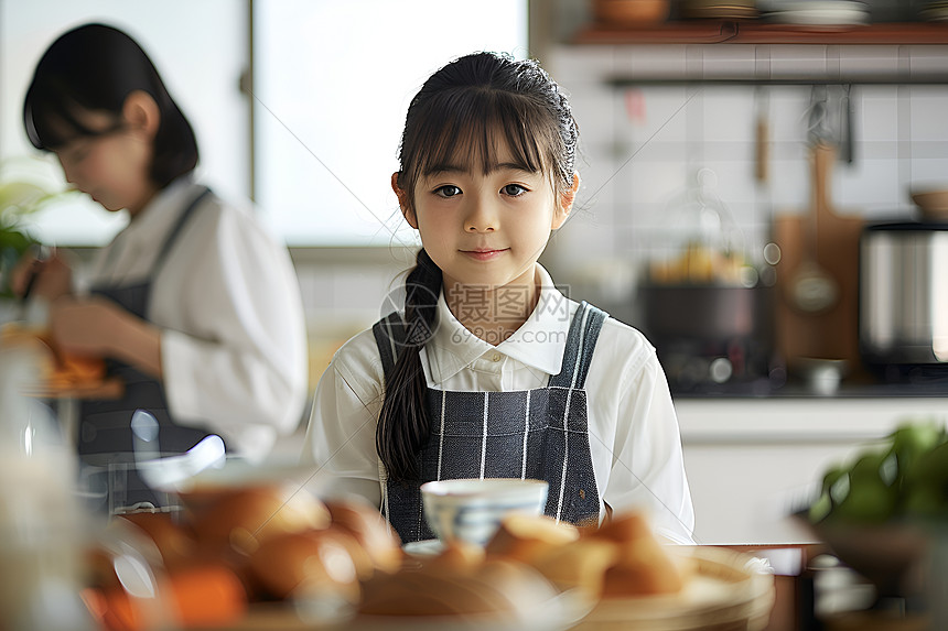
M948 366L948 224L866 226L860 353L875 366Z

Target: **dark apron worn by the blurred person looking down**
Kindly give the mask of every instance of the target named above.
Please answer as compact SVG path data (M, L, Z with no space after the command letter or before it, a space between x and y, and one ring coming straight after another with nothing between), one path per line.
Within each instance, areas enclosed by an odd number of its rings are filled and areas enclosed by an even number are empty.
M208 188L201 191L181 214L159 250L149 278L127 285L94 286L91 293L105 296L136 316L148 319L152 282L187 220L208 195ZM162 454L184 453L208 435L206 429L182 426L171 418L164 389L158 380L120 361L108 360L107 367L110 377L119 377L125 382L125 394L118 400L85 401L79 406L77 445L85 464L105 467L134 461L130 423L136 410L147 410L158 421L158 442ZM123 502L128 505L140 501L157 503L154 500L143 482L130 470Z

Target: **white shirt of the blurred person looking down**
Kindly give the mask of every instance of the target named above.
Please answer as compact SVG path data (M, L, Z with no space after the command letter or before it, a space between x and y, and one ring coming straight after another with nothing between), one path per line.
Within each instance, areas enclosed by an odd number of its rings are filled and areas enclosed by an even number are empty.
M98 253L88 284L152 276L165 238L201 189L190 178L165 187ZM259 460L298 426L306 403L305 320L287 248L249 209L209 196L152 281L147 319L162 329L171 415Z

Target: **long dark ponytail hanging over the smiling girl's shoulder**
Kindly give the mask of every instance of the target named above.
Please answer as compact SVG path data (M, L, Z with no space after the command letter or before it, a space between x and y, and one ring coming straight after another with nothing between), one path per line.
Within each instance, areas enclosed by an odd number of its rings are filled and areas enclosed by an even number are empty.
M431 433L424 405L428 383L419 351L437 326L441 282L441 269L422 248L405 281L405 342L391 374L386 377L375 436L378 456L388 478L395 481L418 478L417 456Z

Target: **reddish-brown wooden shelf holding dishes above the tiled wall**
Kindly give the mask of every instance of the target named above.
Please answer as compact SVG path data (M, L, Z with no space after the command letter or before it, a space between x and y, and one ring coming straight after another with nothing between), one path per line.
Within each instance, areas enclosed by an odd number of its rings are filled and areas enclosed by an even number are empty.
M857 26L806 26L694 20L648 28L592 24L574 44L818 44L948 45L948 22L894 22Z

